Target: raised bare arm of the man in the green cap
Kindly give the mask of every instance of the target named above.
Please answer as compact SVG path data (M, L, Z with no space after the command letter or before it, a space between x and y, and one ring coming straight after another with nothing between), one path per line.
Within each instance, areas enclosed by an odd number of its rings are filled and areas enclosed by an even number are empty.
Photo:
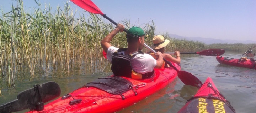
M110 41L112 38L118 33L118 32L123 32L124 30L124 25L122 24L117 24L116 29L110 32L103 40L101 41L101 47L105 52L107 52L108 48L111 47Z

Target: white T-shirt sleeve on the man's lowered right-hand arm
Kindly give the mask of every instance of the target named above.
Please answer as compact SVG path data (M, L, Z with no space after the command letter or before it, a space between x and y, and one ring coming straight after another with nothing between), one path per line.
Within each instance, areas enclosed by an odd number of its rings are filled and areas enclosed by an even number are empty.
M152 72L156 66L156 60L149 54L137 54L130 60L132 69L141 74Z

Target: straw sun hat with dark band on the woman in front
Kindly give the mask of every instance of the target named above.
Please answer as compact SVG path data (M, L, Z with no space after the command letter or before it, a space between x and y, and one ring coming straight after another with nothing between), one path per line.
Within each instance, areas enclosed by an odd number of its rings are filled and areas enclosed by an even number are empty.
M167 46L167 44L169 43L170 41L165 39L164 40L164 37L162 35L156 35L154 38L153 38L153 45L150 46L152 49L160 49L160 48L163 48L165 46Z

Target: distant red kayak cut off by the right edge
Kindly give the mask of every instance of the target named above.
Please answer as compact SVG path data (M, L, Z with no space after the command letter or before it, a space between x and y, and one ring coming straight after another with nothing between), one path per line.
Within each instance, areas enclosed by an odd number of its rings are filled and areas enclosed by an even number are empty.
M241 57L240 59L234 59L229 57L217 56L216 59L220 64L256 69L256 60L254 60L253 58L247 59L246 57Z

